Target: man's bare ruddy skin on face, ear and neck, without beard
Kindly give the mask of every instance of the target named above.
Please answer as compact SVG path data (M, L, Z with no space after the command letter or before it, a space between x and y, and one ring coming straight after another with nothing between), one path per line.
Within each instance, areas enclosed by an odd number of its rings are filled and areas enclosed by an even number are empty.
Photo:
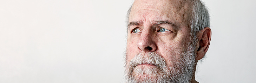
M129 63L138 53L155 52L172 68L173 58L178 58L190 43L190 8L190 0L135 0L129 16L126 61ZM161 28L166 31L161 32ZM201 30L197 36L196 63L209 48L211 29ZM195 71L191 83L198 83Z

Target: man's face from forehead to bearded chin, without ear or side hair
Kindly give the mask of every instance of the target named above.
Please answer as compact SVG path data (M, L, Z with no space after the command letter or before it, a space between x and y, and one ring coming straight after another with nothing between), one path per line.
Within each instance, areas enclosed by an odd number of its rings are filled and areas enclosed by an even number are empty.
M195 51L190 49L190 5L183 0L134 1L126 48L126 72L132 79L170 78L165 74L182 74L186 61L194 63Z

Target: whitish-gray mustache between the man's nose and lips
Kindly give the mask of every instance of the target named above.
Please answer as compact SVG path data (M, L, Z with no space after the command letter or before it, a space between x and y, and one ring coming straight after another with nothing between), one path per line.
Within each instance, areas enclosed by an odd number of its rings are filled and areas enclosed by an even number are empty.
M142 53L136 54L136 56L134 56L134 58L131 59L129 63L129 67L134 68L138 65L143 65L143 64L154 65L159 68L166 67L165 59L159 54L156 54L153 52L146 53L144 55Z

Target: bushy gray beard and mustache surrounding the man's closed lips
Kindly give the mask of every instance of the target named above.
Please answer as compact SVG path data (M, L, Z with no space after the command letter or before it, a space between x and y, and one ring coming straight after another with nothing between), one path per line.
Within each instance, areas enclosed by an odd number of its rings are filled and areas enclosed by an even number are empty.
M154 52L134 56L130 63L125 62L126 83L190 83L195 66L195 48L189 45L186 51L173 56L172 66L166 65L165 59ZM125 60L126 61L126 60ZM136 67L150 63L156 67Z

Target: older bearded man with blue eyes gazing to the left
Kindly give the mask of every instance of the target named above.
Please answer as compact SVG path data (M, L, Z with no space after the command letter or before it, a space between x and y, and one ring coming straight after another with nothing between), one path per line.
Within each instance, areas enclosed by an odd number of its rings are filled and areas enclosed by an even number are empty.
M127 83L198 83L211 40L200 0L135 0L127 16Z

